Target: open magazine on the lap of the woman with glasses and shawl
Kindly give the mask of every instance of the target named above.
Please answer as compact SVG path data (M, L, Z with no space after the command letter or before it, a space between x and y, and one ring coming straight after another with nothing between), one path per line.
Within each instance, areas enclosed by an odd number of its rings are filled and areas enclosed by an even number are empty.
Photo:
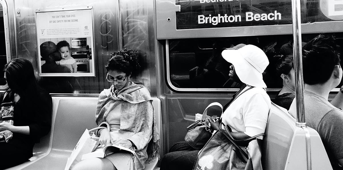
M94 157L105 158L108 155L118 153L124 150L129 151L130 153L134 154L134 151L129 148L118 146L118 145L108 145L108 146L105 146L104 148L97 149L94 152L84 154L81 159L84 160L87 158L94 158Z

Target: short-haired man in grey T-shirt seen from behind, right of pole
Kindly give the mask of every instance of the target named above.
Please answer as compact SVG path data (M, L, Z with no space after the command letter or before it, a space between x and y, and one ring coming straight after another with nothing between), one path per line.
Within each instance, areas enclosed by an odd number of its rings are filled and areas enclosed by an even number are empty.
M330 91L342 79L340 54L333 36L319 35L303 47L303 70L306 124L319 133L332 168L342 169L343 111L328 101ZM295 100L289 113L296 118Z

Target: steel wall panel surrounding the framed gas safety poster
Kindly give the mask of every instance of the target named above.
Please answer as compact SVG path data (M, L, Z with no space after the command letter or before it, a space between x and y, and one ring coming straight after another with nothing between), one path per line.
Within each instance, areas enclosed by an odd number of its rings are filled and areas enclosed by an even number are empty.
M36 10L62 10L93 7L94 20L94 47L95 47L95 72L96 77L39 77L39 81L46 82L51 93L82 93L96 94L110 83L105 81L106 70L104 65L110 54L117 51L119 37L118 1L103 0L16 0L15 11L20 15L15 17L16 26L16 51L17 58L25 58L32 62L34 69L38 70ZM15 58L14 57L14 58ZM64 84L59 84L65 82ZM68 87L65 87L68 86ZM58 89L62 88L62 89Z

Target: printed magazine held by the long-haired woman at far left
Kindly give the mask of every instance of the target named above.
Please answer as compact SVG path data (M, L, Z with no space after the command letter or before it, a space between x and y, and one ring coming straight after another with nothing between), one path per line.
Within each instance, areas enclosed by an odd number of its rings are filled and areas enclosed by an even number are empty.
M3 103L0 105L0 123L9 122L13 125L13 111L15 102ZM9 130L0 131L0 142L8 142L13 133Z

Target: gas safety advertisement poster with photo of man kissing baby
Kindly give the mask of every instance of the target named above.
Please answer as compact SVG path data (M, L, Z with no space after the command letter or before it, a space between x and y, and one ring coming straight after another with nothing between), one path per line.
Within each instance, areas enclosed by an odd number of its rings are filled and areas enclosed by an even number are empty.
M36 12L40 76L95 76L92 9Z

